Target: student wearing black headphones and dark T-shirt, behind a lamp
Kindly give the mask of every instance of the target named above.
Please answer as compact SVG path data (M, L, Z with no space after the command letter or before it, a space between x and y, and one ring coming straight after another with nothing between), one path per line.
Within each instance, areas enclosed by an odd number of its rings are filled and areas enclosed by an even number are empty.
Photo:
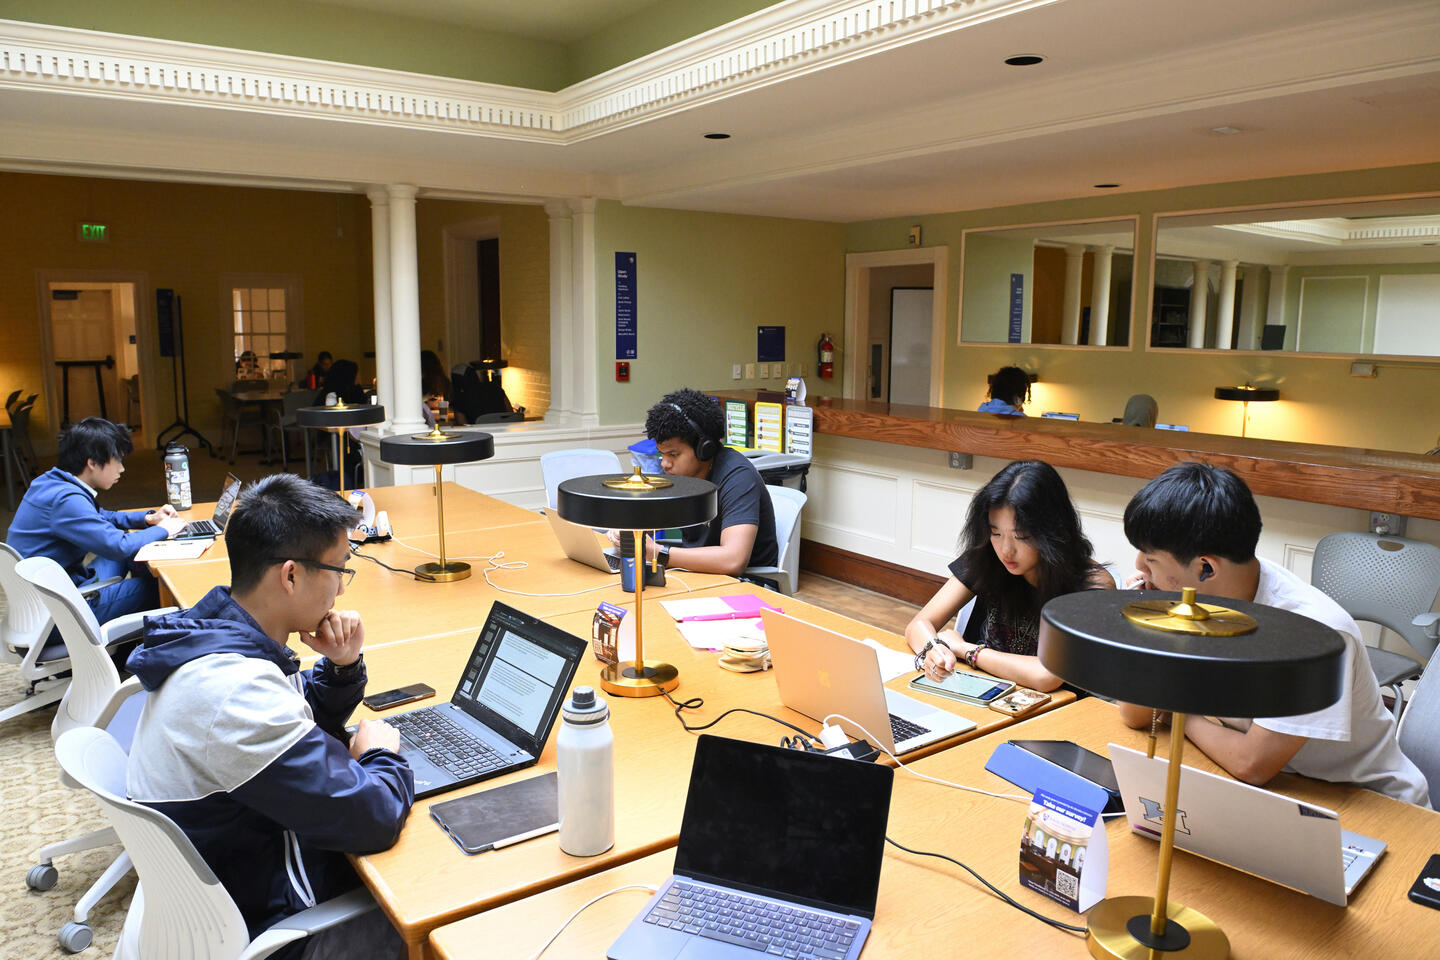
M716 485L714 520L685 527L680 547L657 547L647 538L647 560L658 554L670 567L732 576L746 567L778 563L775 508L750 461L721 443L720 404L698 390L667 393L645 415L645 436L660 448L660 463L667 474ZM619 543L619 534L611 531L611 540Z

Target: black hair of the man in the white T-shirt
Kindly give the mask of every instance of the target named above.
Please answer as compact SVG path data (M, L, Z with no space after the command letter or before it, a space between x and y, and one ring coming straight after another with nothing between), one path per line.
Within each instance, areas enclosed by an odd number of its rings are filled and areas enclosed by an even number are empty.
M1234 472L1187 461L1130 499L1125 535L1136 550L1164 550L1181 563L1202 554L1248 563L1260 543L1260 508Z

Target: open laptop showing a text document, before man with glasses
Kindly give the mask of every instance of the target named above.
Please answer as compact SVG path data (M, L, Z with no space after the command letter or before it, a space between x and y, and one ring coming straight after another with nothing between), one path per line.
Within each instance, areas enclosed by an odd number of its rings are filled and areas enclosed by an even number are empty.
M536 763L585 648L577 636L494 603L451 702L383 717L400 731L415 797Z

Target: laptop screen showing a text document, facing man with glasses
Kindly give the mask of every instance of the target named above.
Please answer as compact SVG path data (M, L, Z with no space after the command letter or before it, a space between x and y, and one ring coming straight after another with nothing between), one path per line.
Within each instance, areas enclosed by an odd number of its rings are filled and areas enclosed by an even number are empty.
M497 602L451 702L539 754L585 649L580 638Z

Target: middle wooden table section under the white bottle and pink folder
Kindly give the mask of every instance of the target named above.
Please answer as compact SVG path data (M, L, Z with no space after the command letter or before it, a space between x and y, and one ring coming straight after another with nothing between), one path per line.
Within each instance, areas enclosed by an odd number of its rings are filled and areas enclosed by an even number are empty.
M749 584L732 583L696 592L697 596L732 593L762 596L788 613L851 636L871 636L896 648L904 643L899 635L867 628L795 597L785 597ZM523 610L528 609L523 602L513 603ZM814 720L780 707L772 672L732 674L716 665L716 653L691 651L690 645L680 636L674 620L660 606L660 597L645 600L644 615L647 656L667 659L680 668L680 687L672 694L675 699L701 697L706 701L698 711L687 711L685 718L691 725L714 720L732 707L746 707L789 720L806 731L818 730L819 724ZM589 638L592 619L589 612L547 619L562 629ZM369 687L387 689L426 681L435 687L438 698L448 698L455 689L455 681L469 656L477 632L467 630L396 642L377 649L367 646ZM576 672L575 685L598 687L598 675L599 665L586 655ZM893 685L903 685L904 679L894 681ZM1070 694L1061 694L1056 702L1067 702L1070 697ZM536 767L445 793L431 800L420 800L415 805L399 842L392 849L353 858L357 872L410 946L412 957L425 956L426 937L438 925L674 846L690 783L696 734L680 725L674 708L664 698L624 699L608 697L608 699L611 727L615 733L616 809L615 846L608 852L583 859L567 856L560 852L559 838L549 835L501 851L467 856L428 815L432 802L454 799L465 792L477 792L553 770L552 734L552 741ZM975 737L1012 723L1011 718L991 710L953 701L936 702L981 724L976 731L949 743L960 743L965 737ZM372 714L364 707L356 712L356 718L383 718L384 715L384 712ZM779 738L791 731L763 717L732 714L714 728L714 733L762 743L779 743ZM943 746L946 744L936 744L929 750L940 750Z

